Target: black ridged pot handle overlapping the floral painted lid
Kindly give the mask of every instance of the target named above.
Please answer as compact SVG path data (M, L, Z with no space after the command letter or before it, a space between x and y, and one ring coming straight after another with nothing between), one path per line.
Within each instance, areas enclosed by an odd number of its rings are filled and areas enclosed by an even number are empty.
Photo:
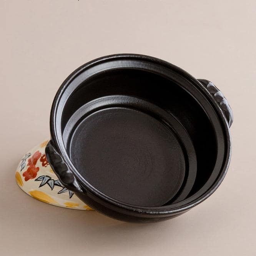
M45 155L47 157L47 161L52 167L55 174L60 179L61 183L65 188L71 190L73 192L83 193L80 185L76 181L75 176L71 171L68 169L68 166L63 161L62 156L56 151L55 147L50 140L45 147Z

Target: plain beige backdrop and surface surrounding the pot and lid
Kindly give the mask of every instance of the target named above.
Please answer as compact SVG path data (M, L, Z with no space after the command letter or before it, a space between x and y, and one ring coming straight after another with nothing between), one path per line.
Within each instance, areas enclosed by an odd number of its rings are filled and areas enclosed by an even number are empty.
M1 255L255 255L256 1L0 0ZM219 189L186 214L130 224L42 203L14 174L49 136L62 81L111 53L162 58L212 80L234 111Z

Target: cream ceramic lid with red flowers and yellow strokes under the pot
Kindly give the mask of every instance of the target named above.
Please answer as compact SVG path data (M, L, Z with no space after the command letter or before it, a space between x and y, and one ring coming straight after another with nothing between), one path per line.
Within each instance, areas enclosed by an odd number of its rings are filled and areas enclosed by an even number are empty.
M50 167L45 146L48 140L28 151L18 164L15 179L28 195L44 203L70 209L93 211L72 191L66 189Z

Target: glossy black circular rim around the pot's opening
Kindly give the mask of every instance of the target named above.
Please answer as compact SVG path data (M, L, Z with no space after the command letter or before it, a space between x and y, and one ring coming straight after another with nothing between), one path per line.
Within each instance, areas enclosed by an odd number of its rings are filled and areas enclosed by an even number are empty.
M214 107L214 112L216 113L218 117L218 121L221 125L221 128L223 130L223 136L224 136L224 143L225 143L225 156L222 163L222 168L219 170L218 178L214 181L214 183L209 187L207 191L202 193L200 196L199 191L197 191L194 195L190 196L189 198L183 200L179 203L174 203L168 206L158 206L158 207L142 207L142 206L134 206L130 204L126 204L123 202L120 202L116 199L110 198L109 196L106 196L105 194L101 193L100 191L96 190L92 185L90 185L76 170L75 166L71 163L68 155L66 154L66 149L62 141L62 134L60 131L57 130L56 126L56 113L60 106L60 99L62 98L63 92L68 87L70 82L76 78L78 75L80 75L83 71L85 71L88 68L91 68L95 65L98 65L100 63L109 62L112 60L139 60L142 62L148 62L148 63L155 63L157 65L162 66L163 68L168 68L170 70L175 71L179 75L183 76L186 80L190 81L196 89L198 90L198 93L201 92L201 94L206 98L209 105ZM145 69L146 70L146 69ZM214 125L213 125L214 127ZM63 81L62 85L58 89L55 98L52 103L51 113L50 113L50 133L51 133L51 139L53 141L53 145L55 146L56 150L60 155L64 156L63 160L65 161L66 165L72 173L75 175L76 179L78 180L78 183L83 186L84 193L92 194L93 197L98 197L101 200L101 203L106 204L108 206L112 205L113 208L117 211L123 211L125 210L127 213L138 213L138 214L146 214L148 216L156 216L156 215L172 215L172 214L179 214L184 211L187 211L191 209L192 207L196 206L197 204L204 201L206 198L208 198L221 184L221 182L224 179L224 176L226 175L226 172L228 170L228 166L231 159L231 135L229 130L228 122L224 116L223 111L221 110L219 104L214 100L213 96L209 93L209 91L203 86L196 78L191 76L188 72L185 70L182 70L178 66L175 66L169 62L166 62L164 60L147 56L147 55L140 55L140 54L127 54L127 53L121 53L121 54L114 54L114 55L108 55L104 57L97 58L95 60L92 60L90 62L87 62L80 67L78 67L75 71L73 71L66 79ZM67 161L67 159L68 161ZM116 207L117 206L117 207Z

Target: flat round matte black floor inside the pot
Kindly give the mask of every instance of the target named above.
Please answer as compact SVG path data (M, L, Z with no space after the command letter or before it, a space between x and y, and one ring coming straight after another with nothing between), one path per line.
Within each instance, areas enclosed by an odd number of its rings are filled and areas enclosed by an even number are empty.
M70 159L97 190L137 206L161 206L181 188L185 157L175 133L154 117L105 108L77 125Z

